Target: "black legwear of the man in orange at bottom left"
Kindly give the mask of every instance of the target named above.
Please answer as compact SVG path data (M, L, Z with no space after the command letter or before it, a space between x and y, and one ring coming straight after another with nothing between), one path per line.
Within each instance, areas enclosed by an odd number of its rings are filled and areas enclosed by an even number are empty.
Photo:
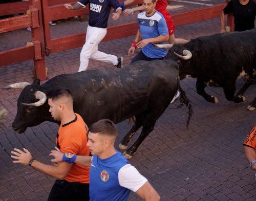
M56 180L49 194L48 201L89 201L89 184Z

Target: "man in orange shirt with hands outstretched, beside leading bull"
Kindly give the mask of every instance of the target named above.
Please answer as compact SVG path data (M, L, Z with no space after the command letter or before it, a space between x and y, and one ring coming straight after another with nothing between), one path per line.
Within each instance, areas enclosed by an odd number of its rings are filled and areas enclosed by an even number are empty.
M89 155L87 144L88 128L80 115L73 110L73 98L69 90L53 90L48 94L50 113L56 121L60 121L56 136L57 147L62 152L69 152L63 157L71 159L73 154ZM29 165L40 172L57 178L49 194L48 201L53 200L89 200L90 168L78 164L59 162L48 165L35 160L31 153L14 149L11 151L13 163Z

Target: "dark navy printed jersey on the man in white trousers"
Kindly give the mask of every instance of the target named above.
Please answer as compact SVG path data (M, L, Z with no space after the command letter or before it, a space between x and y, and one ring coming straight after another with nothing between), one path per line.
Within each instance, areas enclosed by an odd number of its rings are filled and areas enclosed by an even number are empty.
M89 3L89 25L98 28L108 27L111 7L115 10L121 8L117 0L80 0L79 3L84 6Z

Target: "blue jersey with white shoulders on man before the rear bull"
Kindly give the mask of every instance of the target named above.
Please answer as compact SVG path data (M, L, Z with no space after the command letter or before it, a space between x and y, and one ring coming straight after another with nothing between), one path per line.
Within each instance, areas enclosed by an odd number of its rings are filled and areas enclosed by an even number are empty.
M138 14L138 24L142 39L155 38L160 35L168 35L168 28L163 15L156 11L152 16L147 17L145 11ZM165 42L159 43L165 44ZM159 49L148 43L142 52L150 58L162 58L166 56L165 49Z

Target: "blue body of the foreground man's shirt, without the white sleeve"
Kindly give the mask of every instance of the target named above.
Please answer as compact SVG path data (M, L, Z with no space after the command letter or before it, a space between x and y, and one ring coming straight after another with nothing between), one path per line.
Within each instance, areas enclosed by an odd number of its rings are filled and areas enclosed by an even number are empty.
M129 162L119 151L103 160L94 155L90 170L90 200L126 201L130 190L119 185L118 172L127 164Z

